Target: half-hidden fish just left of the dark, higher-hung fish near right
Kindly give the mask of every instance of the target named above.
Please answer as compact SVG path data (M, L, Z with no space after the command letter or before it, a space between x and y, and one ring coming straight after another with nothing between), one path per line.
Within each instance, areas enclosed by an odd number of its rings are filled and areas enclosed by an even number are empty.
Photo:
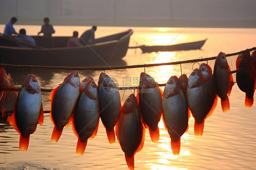
M199 70L201 71L201 73L203 75L202 80L204 82L206 82L207 88L209 89L209 92L210 92L208 104L209 104L209 107L211 108L211 110L208 113L208 115L206 116L206 118L207 118L213 114L213 112L217 106L218 98L217 98L217 93L214 88L213 75L212 75L212 70L211 70L210 66L205 63L202 63L199 67Z

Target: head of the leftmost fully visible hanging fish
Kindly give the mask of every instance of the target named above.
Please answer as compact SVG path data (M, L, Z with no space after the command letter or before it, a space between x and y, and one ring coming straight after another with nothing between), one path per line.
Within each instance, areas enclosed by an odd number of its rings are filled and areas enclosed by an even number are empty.
M22 87L31 94L41 93L41 88L35 75L29 74L24 80Z

